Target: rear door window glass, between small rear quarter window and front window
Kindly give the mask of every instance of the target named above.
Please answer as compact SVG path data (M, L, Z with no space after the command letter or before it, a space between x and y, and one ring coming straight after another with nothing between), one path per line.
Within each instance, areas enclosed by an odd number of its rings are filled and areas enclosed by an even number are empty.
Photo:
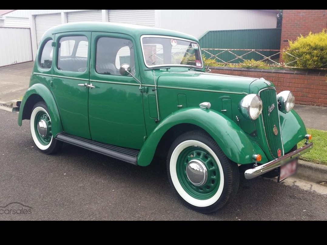
M60 71L85 72L89 43L85 36L63 37L59 41L57 68Z

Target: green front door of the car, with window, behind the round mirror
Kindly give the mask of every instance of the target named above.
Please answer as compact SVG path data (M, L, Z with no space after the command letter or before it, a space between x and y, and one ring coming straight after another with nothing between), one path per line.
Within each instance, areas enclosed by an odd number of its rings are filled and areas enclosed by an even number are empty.
M92 33L89 124L96 141L140 149L146 136L142 93L132 76L121 76L128 63L141 81L134 43L124 34Z

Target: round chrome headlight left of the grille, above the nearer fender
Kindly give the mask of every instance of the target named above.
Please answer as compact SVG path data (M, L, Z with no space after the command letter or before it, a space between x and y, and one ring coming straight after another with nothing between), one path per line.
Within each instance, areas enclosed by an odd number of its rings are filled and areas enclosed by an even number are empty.
M256 120L262 111L262 101L257 94L248 94L239 104L242 115L249 120Z

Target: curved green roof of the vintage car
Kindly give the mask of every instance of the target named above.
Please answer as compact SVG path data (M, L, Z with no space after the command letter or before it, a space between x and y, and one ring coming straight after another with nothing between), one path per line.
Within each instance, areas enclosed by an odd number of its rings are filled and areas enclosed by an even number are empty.
M135 39L139 39L142 35L163 35L173 36L193 41L198 41L194 36L181 33L178 31L151 27L137 24L123 24L112 22L76 22L56 25L51 27L44 33L44 37L51 37L55 33L74 32L74 31L93 31L93 32L114 32L128 34Z

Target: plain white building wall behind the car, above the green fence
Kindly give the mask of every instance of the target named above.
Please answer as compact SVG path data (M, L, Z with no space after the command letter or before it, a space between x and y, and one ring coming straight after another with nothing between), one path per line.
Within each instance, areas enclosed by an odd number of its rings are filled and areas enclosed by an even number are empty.
M276 28L277 13L251 9L160 9L156 26L196 38L207 31Z

